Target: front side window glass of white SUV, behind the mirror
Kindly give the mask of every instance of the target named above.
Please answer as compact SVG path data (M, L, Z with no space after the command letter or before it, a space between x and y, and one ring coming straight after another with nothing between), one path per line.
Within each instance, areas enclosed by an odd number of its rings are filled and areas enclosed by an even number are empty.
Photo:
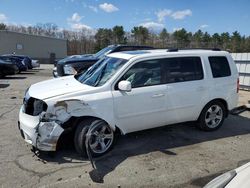
M132 88L162 84L160 60L149 60L133 65L120 79L131 82Z

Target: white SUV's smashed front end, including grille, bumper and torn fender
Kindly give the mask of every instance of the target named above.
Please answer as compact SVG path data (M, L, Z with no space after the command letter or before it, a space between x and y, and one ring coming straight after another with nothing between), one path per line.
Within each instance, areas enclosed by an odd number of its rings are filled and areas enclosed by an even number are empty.
M43 100L26 94L19 113L19 128L25 141L41 151L56 151L57 141L64 132L63 125L71 117L92 113L81 100Z

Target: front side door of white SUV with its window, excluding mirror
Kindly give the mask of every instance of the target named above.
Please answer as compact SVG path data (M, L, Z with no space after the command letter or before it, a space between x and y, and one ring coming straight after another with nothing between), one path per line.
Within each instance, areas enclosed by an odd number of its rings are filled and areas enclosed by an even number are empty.
M117 88L122 80L131 82L130 92ZM159 60L134 64L119 81L112 94L116 124L124 133L164 125L166 85Z

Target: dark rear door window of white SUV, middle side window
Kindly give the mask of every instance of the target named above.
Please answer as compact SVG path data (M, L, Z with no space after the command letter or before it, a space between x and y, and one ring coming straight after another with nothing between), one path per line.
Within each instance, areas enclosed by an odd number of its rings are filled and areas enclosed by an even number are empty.
M200 57L178 57L163 60L166 83L203 79Z

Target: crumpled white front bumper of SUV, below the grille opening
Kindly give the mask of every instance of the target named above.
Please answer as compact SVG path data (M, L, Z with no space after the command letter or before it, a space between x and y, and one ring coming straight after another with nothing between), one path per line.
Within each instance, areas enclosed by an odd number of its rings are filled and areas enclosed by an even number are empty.
M56 151L57 141L64 129L55 121L42 122L39 116L19 112L18 127L24 140L41 151Z

